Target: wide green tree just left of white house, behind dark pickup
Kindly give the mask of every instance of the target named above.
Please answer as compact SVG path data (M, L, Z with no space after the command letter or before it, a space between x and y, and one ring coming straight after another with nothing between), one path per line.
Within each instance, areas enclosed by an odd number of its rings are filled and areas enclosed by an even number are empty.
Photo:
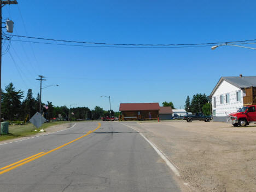
M193 98L191 100L191 112L193 113L199 113L200 109L202 109L202 106L205 103L208 103L209 98L205 94L196 94L193 95Z

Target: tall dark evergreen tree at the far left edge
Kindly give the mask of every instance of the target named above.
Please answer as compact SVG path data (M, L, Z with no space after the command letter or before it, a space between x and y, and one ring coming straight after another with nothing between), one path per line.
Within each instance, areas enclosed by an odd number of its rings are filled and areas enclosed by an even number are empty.
M3 102L2 102L2 113L4 119L14 120L22 119L21 115L21 98L23 97L23 92L21 90L15 91L13 83L10 83L5 87L3 92Z

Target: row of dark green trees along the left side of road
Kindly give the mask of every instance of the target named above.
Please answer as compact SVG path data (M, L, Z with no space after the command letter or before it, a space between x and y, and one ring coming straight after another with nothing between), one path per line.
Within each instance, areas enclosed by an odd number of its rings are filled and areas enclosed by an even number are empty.
M1 117L4 120L28 120L36 112L39 112L40 106L40 95L33 97L32 89L27 90L25 99L24 92L21 90L16 90L13 83L5 86L5 90L2 90L1 104L2 104L2 114ZM70 116L69 116L70 113ZM67 106L54 106L52 102L47 101L47 103L42 103L42 114L45 119L65 119L78 120L78 119L98 119L106 116L118 117L119 112L114 112L111 110L103 110L103 108L96 106L94 109L89 109L88 107L73 107L70 110ZM2 119L2 120L3 120Z

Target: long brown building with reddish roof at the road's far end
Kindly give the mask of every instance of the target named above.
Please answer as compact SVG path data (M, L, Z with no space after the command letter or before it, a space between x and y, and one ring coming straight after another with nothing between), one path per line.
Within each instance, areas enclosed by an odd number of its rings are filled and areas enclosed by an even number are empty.
M159 103L120 103L122 120L158 119Z

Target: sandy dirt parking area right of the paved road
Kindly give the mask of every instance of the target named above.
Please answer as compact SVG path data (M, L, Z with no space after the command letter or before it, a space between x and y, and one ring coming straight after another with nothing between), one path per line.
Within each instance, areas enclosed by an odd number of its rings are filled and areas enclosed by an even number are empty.
M194 191L256 191L256 124L127 123L162 150Z

